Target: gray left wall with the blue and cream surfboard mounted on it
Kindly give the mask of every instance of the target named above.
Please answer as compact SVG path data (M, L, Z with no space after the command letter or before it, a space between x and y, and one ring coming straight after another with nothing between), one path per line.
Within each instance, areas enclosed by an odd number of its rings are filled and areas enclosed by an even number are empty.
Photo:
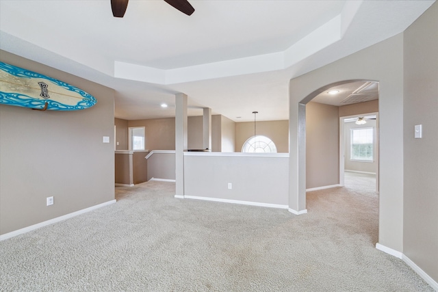
M81 111L0 105L0 234L114 200L114 90L5 51L0 60L97 99Z

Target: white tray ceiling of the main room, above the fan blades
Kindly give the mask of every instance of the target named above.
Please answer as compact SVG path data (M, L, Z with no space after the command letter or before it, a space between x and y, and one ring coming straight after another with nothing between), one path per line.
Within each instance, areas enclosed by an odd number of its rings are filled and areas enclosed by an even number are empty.
M183 92L190 116L283 120L289 79L399 34L434 2L189 1L192 16L130 0L114 18L110 0L0 0L0 49L114 88L116 118L175 116Z

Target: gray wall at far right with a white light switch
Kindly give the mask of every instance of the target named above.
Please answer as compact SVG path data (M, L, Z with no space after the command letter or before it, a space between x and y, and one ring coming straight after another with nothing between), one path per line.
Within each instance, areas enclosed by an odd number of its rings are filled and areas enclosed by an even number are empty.
M403 77L403 253L438 282L438 3L404 32Z

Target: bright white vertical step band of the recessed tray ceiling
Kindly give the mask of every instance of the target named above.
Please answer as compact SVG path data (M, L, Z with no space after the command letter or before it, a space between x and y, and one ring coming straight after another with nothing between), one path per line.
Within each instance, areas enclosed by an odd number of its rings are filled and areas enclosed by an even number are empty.
M342 14L335 16L282 52L168 70L116 61L114 77L170 85L283 70L341 40L341 32L346 30L342 19Z

